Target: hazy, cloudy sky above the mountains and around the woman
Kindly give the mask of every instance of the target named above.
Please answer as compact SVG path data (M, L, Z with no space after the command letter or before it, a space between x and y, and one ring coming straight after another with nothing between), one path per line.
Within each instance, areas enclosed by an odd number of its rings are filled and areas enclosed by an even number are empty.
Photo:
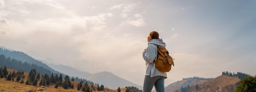
M152 30L175 59L165 86L256 74L255 0L0 0L0 46L138 85Z

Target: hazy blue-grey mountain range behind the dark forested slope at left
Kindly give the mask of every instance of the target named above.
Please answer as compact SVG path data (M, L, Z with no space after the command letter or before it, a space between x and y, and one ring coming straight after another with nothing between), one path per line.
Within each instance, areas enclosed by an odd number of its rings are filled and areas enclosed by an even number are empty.
M99 84L103 84L104 86L111 88L111 89L117 89L118 87L125 88L126 86L134 86L139 89L142 89L141 85L137 85L137 84L132 83L126 79L122 79L111 72L103 71L103 72L91 74L88 72L79 71L70 66L64 66L61 64L55 65L55 64L47 63L44 60L37 60L37 59L34 59L33 57L27 55L26 53L12 50L12 49L6 48L4 46L0 46L0 55L5 55L5 57L11 57L11 59L17 59L22 62L27 61L30 64L37 64L38 66L42 66L46 69L49 69L54 73L61 72L61 73L67 74L69 76L87 79L87 80L93 81L94 83L96 82Z

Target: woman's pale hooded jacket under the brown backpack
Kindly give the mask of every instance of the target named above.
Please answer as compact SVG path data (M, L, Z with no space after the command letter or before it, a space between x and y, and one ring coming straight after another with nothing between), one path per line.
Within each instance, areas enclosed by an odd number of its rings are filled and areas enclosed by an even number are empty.
M166 72L161 72L155 68L155 64L153 63L155 60L157 60L157 46L160 45L165 47L165 43L162 39L151 39L148 41L148 47L146 50L142 53L143 59L146 61L146 76L150 77L156 77L156 76L162 76L167 78Z

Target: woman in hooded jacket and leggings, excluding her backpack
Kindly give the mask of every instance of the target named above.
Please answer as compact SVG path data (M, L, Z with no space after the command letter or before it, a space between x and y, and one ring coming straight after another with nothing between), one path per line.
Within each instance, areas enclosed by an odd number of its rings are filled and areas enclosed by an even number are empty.
M148 35L148 47L142 53L143 59L146 61L143 92L151 92L154 85L157 92L164 92L166 72L157 70L153 63L157 60L157 45L165 47L163 40L159 39L159 34L156 31L151 31Z

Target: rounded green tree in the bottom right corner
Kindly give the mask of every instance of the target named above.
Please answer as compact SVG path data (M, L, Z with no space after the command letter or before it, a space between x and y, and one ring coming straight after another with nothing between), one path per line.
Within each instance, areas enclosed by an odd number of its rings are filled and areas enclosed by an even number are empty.
M240 80L240 84L236 87L236 92L256 92L256 76L248 76Z

